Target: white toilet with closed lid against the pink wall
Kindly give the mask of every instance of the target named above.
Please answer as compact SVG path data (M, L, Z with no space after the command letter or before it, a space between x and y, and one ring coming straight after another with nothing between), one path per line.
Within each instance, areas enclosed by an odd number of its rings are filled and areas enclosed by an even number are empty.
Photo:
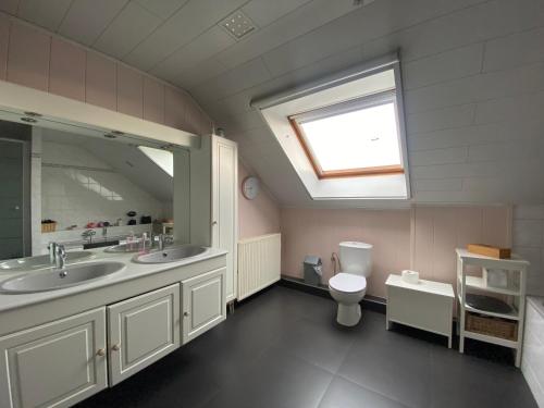
M338 302L336 321L353 326L361 320L359 301L367 293L367 276L371 273L372 245L345 242L339 244L341 272L329 280L329 290Z

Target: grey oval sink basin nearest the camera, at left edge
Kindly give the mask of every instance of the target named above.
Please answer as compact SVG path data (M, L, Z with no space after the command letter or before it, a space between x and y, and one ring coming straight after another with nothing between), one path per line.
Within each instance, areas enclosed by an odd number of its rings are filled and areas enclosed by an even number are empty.
M125 264L122 262L79 263L67 265L62 270L49 268L47 271L28 273L7 280L0 284L0 292L28 294L58 290L108 277L124 268Z

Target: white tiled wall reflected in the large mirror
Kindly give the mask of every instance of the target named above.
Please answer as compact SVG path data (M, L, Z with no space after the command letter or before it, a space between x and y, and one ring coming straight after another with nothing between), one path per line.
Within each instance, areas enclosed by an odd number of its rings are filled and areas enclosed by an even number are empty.
M59 230L119 218L126 223L129 210L138 222L163 217L159 200L83 148L45 141L42 157L41 218L55 220Z

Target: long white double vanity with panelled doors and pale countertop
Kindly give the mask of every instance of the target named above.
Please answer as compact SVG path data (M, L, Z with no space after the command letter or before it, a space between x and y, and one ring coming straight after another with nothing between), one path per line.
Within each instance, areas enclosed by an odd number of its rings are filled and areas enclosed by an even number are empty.
M71 406L225 319L226 251L152 264L133 257L97 249L74 265L124 268L63 289L0 295L0 407Z

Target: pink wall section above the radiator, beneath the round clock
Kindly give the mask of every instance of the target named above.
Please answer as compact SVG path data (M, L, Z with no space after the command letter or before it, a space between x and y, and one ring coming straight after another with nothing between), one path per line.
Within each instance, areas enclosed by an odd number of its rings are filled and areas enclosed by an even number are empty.
M244 164L238 164L238 238L249 238L280 232L280 208L267 190L255 200L242 194L242 182L249 175Z

